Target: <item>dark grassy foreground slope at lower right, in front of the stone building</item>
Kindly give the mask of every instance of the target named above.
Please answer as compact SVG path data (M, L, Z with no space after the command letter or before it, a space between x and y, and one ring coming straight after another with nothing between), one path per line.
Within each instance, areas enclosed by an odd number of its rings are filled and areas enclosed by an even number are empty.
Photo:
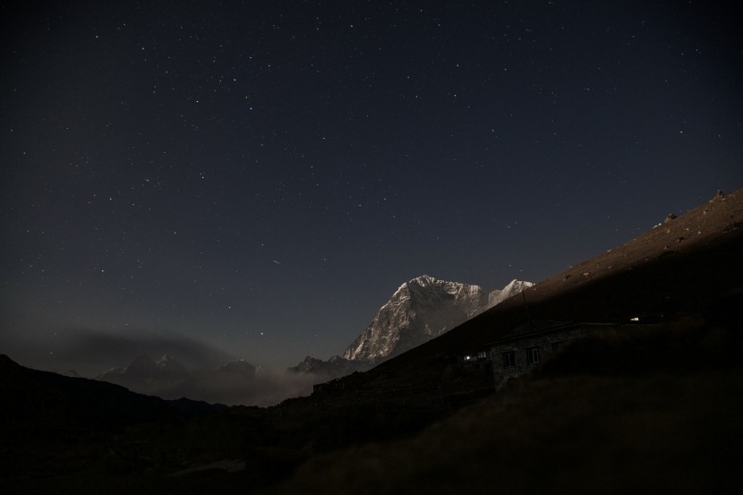
M739 492L740 344L701 321L590 338L414 440L315 457L272 493Z

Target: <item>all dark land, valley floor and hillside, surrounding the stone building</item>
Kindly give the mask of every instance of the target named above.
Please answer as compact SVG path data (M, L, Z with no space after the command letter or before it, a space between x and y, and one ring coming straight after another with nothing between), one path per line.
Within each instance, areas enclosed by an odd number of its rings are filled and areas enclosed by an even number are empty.
M269 408L164 401L2 356L0 486L739 493L741 211L743 192L715 196L342 389ZM457 366L528 318L607 324L498 392Z

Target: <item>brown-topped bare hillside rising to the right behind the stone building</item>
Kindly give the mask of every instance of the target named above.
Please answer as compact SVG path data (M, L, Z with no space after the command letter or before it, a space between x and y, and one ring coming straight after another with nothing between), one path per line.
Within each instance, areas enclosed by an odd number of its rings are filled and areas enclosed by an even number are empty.
M624 321L638 315L739 312L743 190L713 199L550 277L419 346L397 362L483 346L534 320ZM394 361L394 360L393 360Z

